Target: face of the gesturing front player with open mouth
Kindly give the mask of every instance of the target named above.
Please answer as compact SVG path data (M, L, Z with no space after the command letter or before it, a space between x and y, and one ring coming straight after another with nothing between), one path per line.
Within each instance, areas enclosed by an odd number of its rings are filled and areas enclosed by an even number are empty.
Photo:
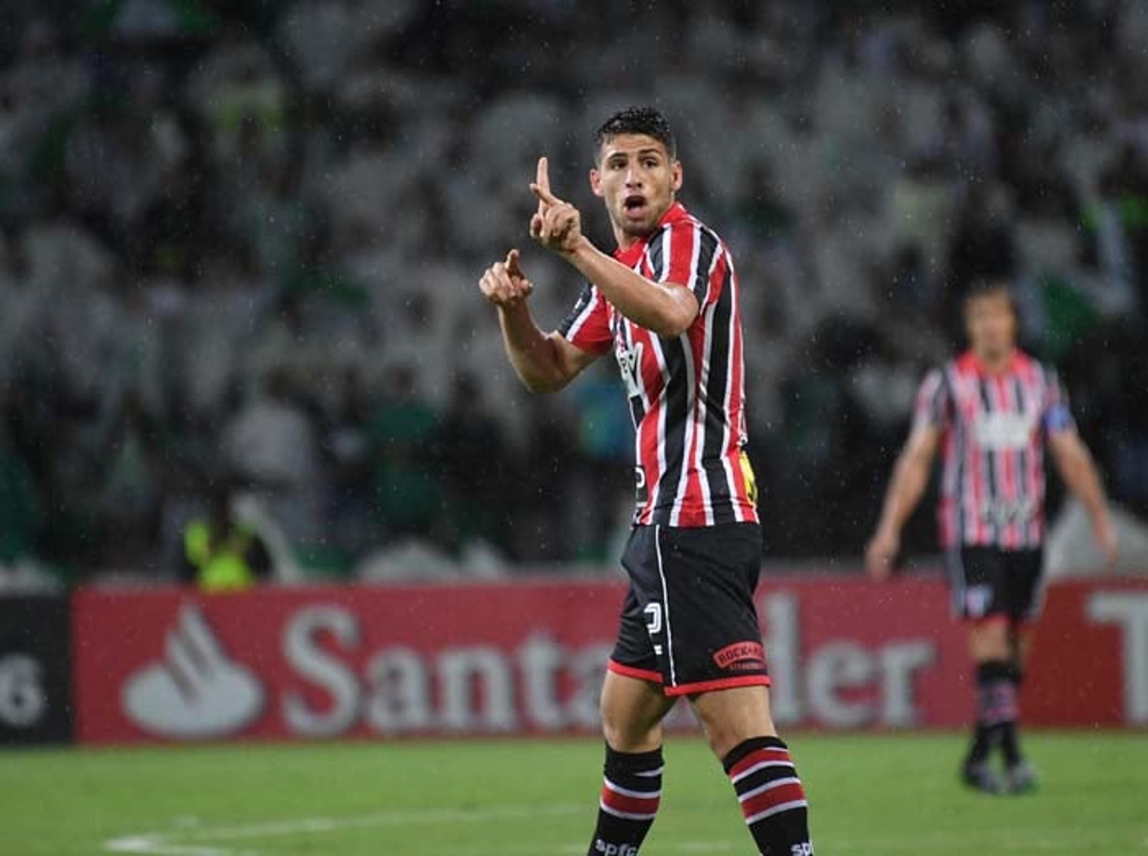
M682 186L682 164L645 134L618 134L602 143L590 187L606 203L619 235L630 242L653 232Z

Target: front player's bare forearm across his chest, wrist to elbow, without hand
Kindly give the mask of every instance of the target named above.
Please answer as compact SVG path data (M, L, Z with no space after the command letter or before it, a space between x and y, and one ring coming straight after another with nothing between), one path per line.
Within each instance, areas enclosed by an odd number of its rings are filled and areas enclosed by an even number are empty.
M698 313L697 299L678 285L652 282L595 247L583 238L573 252L563 256L598 287L614 309L639 327L662 337L682 333Z

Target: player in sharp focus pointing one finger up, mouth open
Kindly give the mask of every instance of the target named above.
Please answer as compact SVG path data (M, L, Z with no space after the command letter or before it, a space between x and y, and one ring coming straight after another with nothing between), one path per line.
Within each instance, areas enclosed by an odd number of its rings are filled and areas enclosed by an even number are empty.
M613 350L637 431L637 507L622 557L630 587L602 691L605 781L589 853L638 853L661 794L661 721L684 695L758 850L812 854L805 792L770 716L753 605L761 535L743 451L734 262L676 201L682 164L656 110L625 110L598 130L590 187L610 216L613 256L551 192L545 158L530 185L530 236L588 280L557 332L543 333L527 308L534 286L518 250L480 283L528 389L560 389Z

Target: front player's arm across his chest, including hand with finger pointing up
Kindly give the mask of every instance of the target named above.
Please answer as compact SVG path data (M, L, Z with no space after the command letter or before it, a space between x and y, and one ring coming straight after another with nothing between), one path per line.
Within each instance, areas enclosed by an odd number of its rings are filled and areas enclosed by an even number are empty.
M530 236L553 250L598 287L614 309L639 327L672 338L698 317L698 299L684 283L654 282L595 247L582 234L581 215L550 192L546 158L538 158L537 180L530 185L538 211Z

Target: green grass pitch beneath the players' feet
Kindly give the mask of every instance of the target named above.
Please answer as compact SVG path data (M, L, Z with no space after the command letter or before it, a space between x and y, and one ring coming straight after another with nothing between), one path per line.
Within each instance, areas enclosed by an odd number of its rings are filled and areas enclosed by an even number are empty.
M955 734L794 734L819 856L1148 856L1148 736L1027 739L1030 795L956 784ZM643 854L752 854L697 737L666 746ZM589 739L0 753L0 854L544 856L585 851Z

